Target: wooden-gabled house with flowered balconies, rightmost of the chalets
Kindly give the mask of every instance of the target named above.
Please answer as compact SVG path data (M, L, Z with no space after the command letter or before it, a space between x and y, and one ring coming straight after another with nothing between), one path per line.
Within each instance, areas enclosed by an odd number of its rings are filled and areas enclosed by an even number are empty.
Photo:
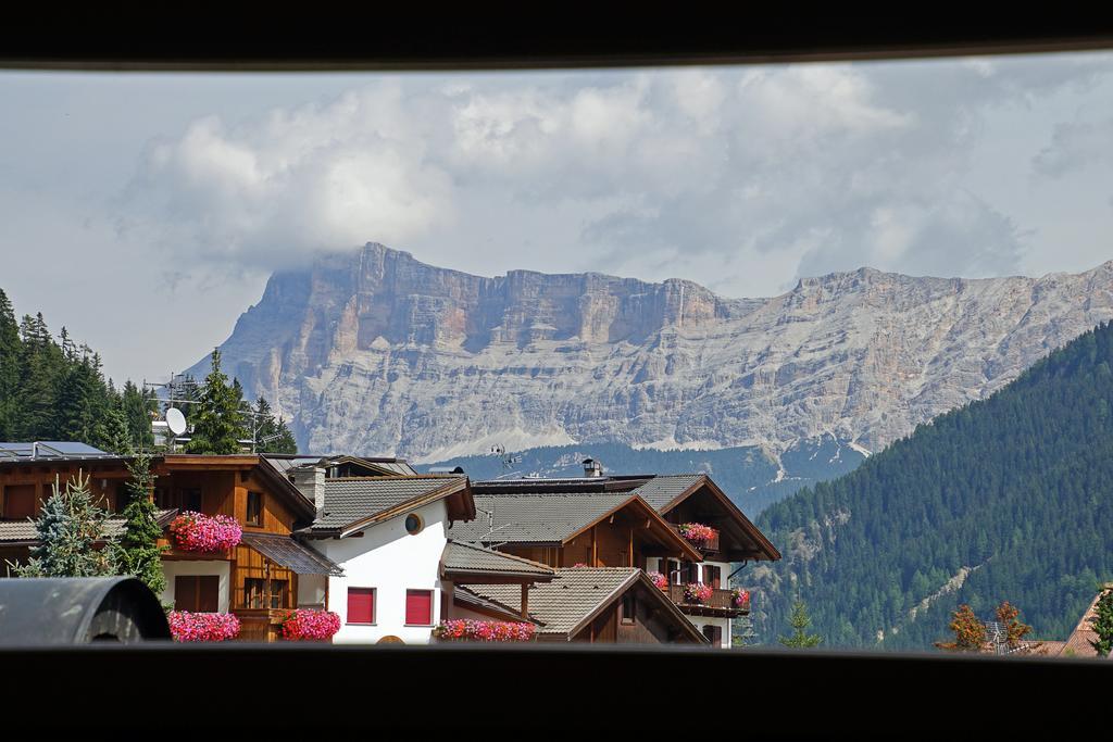
M729 647L731 620L749 611L730 590L731 563L779 560L777 548L706 474L603 476L591 459L584 468L584 477L472 483L480 517L452 537L556 568L658 573L689 621ZM690 524L706 526L701 538L681 535Z

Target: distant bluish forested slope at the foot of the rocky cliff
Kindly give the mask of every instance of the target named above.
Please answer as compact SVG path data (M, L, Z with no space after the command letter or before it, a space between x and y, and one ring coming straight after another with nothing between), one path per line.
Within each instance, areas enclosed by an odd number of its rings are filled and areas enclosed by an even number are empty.
M510 458L490 454L457 456L418 468L461 466L473 479L583 476L582 462L589 457L601 462L608 474L709 474L750 517L801 487L850 472L865 458L860 451L827 437L796 444L780 455L779 462L757 447L657 451L595 443L528 448L513 452Z

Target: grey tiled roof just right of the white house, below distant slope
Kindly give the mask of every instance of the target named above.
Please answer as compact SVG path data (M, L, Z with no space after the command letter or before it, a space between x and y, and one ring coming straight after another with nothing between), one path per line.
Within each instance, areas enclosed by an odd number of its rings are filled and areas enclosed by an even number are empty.
M475 495L476 518L454 524L449 534L454 541L559 543L631 497L629 492ZM487 513L494 514L490 535Z

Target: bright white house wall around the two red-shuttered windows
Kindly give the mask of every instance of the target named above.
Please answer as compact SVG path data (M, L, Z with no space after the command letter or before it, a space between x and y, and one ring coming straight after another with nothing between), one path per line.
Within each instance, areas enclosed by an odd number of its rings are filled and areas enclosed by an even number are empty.
M416 535L406 533L410 513L417 513L425 524ZM343 577L328 577L328 610L341 616L334 644L373 644L384 636L397 636L406 644L429 643L430 626L405 625L406 591L433 591L433 623L440 622L444 585L437 575L446 543L446 520L442 499L371 526L362 537L308 542L344 570ZM347 623L349 586L375 588L374 624Z

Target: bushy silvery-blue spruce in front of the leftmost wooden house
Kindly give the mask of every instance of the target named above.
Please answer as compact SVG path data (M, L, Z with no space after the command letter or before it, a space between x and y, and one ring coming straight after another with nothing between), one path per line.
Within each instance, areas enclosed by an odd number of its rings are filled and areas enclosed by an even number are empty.
M89 477L77 477L62 489L57 479L35 526L39 545L28 564L16 566L21 577L99 577L116 574L115 548L105 537L108 514L97 507ZM98 544L107 543L104 548Z

